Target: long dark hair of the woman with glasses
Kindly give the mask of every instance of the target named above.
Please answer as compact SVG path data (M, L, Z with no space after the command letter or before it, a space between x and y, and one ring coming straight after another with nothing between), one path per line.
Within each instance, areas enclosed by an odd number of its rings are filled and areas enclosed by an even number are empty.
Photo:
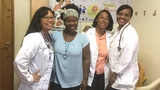
M45 7L45 6L40 7L35 12L25 36L30 33L33 33L33 32L40 32L41 31L41 29L42 29L41 18L43 18L45 15L47 15L48 11L51 11L54 16L54 11L52 11L49 7Z

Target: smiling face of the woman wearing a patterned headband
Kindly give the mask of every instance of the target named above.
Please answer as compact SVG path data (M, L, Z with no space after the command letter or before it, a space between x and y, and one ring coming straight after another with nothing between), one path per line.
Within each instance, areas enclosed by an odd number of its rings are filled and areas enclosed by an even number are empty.
M78 27L78 19L77 19L77 17L68 16L64 20L64 25L66 27L66 30L68 30L70 32L75 32L75 30L77 30L77 27Z

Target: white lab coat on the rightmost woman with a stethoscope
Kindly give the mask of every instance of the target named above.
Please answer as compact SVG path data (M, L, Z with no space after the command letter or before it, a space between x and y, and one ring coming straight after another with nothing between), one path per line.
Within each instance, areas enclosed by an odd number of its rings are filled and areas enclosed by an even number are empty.
M117 30L112 36L113 41L111 41L109 48L109 67L112 72L118 74L117 79L112 84L113 88L118 90L135 90L139 78L137 61L139 40L135 29L130 24L125 28L126 25L120 31ZM117 47L119 46L122 31L121 50L118 51Z

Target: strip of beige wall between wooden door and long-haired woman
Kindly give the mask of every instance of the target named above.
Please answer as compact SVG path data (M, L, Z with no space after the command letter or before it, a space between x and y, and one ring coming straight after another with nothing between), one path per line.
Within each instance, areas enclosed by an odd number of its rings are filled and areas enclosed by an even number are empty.
M22 38L30 23L30 0L14 0L14 53L17 54ZM14 55L14 56L15 56ZM14 90L18 90L19 79L14 74Z

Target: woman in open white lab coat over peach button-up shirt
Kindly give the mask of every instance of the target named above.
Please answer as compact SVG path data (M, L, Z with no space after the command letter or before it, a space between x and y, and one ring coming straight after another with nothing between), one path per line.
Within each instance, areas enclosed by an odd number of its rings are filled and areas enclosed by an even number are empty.
M108 49L113 19L109 11L101 10L95 17L93 28L85 32L90 42L90 73L87 90L104 90L108 84Z

